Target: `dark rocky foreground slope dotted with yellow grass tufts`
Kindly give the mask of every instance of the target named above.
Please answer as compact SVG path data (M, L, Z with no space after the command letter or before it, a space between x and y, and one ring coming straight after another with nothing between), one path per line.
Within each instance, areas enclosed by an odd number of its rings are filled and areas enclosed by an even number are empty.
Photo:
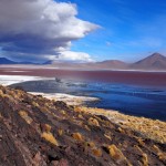
M165 139L148 136L144 126L0 86L0 166L166 165Z

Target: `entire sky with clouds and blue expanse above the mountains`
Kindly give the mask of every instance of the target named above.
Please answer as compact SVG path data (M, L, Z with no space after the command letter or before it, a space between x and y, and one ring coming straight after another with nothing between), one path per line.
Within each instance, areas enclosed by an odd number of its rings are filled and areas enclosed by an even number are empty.
M165 45L165 0L0 0L0 56L134 62Z

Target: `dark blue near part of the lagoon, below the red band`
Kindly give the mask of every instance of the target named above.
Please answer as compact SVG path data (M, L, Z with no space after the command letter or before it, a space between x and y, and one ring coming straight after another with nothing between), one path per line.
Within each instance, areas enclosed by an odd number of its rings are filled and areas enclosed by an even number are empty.
M68 93L95 96L97 103L89 106L117 110L122 113L166 121L166 89L145 87L100 82L76 82L75 80L43 80L14 84L25 91L43 93Z

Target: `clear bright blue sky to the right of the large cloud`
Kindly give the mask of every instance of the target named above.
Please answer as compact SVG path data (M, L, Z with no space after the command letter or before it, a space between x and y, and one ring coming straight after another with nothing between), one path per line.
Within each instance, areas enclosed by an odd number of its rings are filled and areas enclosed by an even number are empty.
M65 1L65 0L64 0ZM65 1L65 2L69 2ZM101 29L72 43L98 61L135 61L153 52L166 54L165 0L71 0L79 18Z

